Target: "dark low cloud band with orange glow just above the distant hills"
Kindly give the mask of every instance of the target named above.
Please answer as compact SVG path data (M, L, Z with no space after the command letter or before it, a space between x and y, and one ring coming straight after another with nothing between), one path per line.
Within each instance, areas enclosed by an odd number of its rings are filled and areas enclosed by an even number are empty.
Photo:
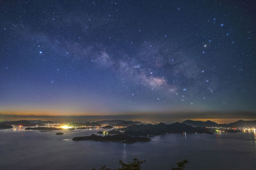
M53 122L97 122L100 120L138 120L143 123L160 123L170 124L174 122L184 122L185 120L211 120L212 122L231 123L237 120L256 120L256 113L252 111L177 111L163 113L122 113L122 114L105 114L105 115L15 115L1 114L1 121L16 120L42 120Z

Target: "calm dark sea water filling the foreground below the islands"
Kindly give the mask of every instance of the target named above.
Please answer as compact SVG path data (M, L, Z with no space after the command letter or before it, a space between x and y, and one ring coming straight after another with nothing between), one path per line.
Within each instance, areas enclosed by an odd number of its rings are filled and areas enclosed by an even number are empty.
M256 137L250 133L169 134L149 143L72 141L95 130L0 131L0 169L92 169L117 167L134 157L145 159L143 169L171 169L188 159L187 169L256 169Z

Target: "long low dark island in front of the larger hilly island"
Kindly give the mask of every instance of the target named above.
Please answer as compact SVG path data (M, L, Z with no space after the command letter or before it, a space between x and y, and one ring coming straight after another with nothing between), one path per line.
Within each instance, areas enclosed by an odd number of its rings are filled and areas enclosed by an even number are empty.
M92 134L91 136L79 136L73 138L73 141L102 141L102 142L121 142L121 143L135 143L135 142L148 142L150 138L147 137L132 137L124 134L97 136Z

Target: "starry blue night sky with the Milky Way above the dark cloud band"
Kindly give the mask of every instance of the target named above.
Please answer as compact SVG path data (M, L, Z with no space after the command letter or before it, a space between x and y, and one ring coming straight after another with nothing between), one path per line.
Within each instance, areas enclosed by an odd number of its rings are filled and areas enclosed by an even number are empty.
M1 1L0 113L256 111L254 1Z

